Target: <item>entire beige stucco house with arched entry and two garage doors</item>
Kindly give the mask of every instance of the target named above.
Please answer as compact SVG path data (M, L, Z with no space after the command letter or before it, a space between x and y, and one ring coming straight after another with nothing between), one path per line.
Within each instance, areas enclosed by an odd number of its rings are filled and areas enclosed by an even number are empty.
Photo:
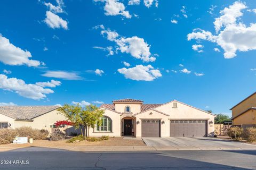
M165 104L143 104L141 100L114 100L105 110L101 125L90 136L213 137L214 114L173 100Z

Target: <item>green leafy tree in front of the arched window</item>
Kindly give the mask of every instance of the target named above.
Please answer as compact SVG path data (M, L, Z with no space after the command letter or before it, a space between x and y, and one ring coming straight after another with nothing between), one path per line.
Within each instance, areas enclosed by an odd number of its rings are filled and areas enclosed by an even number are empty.
M80 125L83 125L84 128L89 128L89 130L90 128L94 128L97 123L101 124L101 117L104 114L104 111L97 106L89 105L82 107L79 104L76 106L65 104L60 107L58 111L72 122L76 129L78 129ZM88 133L84 131L84 137L89 137L89 130Z

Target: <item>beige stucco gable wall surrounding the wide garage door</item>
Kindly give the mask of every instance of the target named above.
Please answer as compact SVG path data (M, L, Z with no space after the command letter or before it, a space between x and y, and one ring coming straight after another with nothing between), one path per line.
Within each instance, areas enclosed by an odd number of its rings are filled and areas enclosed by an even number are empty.
M173 107L173 102L177 103L177 108ZM212 121L212 124L207 123L207 135L209 137L214 136L214 115L203 112L197 108L190 107L188 105L179 103L178 101L172 101L166 105L160 106L156 108L158 111L164 112L169 114L169 119L172 120L180 120L180 119L187 119L187 120L207 120L207 122ZM169 121L170 124L170 121ZM169 128L170 131L170 128Z

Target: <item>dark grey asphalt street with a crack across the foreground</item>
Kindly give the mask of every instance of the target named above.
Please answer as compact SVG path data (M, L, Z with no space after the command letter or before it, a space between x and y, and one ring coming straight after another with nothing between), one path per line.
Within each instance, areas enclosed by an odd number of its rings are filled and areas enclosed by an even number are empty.
M0 158L0 169L256 169L256 150L149 152L14 150L0 152ZM10 164L6 165L7 162Z

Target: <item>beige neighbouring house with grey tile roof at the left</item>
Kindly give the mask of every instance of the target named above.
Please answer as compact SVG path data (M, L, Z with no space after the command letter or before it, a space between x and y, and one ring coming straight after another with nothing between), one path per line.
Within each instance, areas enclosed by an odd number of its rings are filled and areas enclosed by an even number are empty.
M59 106L0 106L0 128L31 126L51 131L51 125L66 118L59 114Z

